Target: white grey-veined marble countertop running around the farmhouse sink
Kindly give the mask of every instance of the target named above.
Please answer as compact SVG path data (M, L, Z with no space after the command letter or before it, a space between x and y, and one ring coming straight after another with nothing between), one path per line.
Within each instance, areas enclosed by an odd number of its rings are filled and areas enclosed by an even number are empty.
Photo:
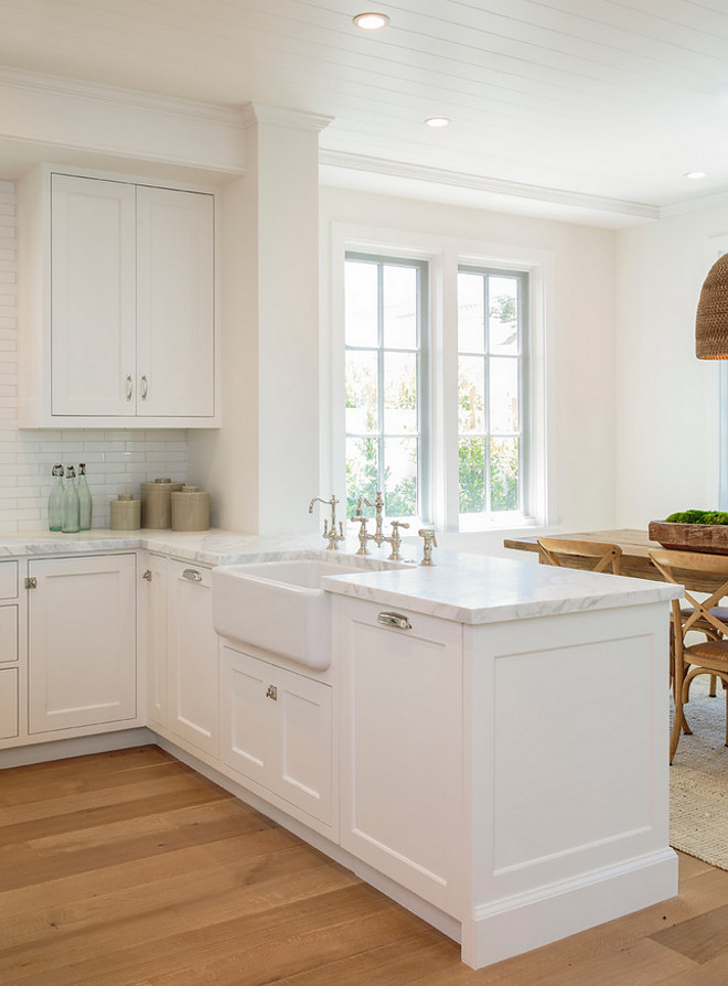
M367 599L462 623L489 623L558 613L639 605L676 599L679 588L665 582L631 579L535 565L521 558L495 558L464 551L433 553L431 568L420 566L421 546L403 544L404 565L390 567L388 547L355 557L356 537L326 551L320 534L279 537L228 530L103 530L52 534L47 530L0 534L0 556L71 555L146 548L201 565L240 565L286 558L317 558L378 565L378 571L325 578L324 588L342 596Z

